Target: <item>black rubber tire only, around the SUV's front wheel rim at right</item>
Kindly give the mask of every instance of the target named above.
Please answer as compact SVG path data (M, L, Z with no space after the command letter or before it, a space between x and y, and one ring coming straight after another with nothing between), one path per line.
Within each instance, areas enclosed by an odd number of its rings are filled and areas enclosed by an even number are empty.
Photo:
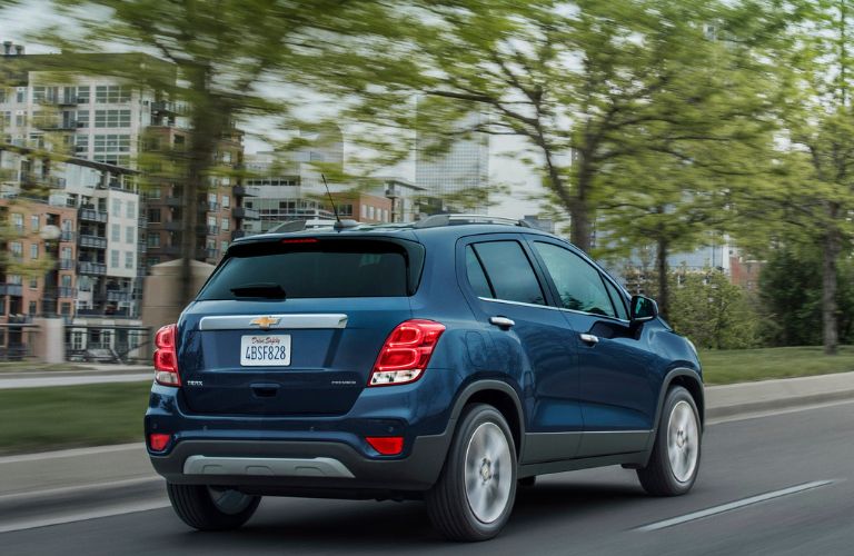
M671 419L674 415L674 408L681 405L681 408L687 404L691 407L694 421L696 424L696 463L692 471L686 471L682 478L678 478L671 464L668 453L668 429ZM694 436L694 435L693 435ZM646 467L637 470L637 478L640 486L647 494L653 496L679 496L686 494L694 486L699 473L699 461L703 446L703 429L699 424L699 411L697 405L688 390L682 386L674 386L667 391L667 397L662 407L662 416L658 420L658 430L655 436L655 445L649 456Z

